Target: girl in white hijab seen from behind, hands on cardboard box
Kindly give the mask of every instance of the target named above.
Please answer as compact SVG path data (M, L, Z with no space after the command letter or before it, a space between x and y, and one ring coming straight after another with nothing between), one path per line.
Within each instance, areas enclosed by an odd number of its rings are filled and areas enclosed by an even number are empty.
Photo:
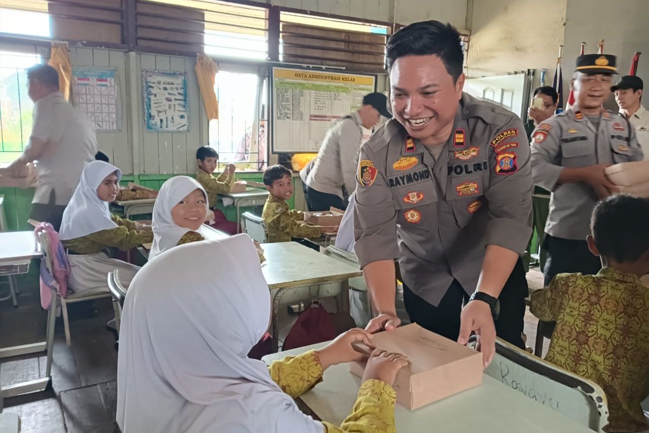
M208 257L217 254L221 259ZM354 329L266 367L246 354L269 325L271 298L247 235L171 248L134 278L122 313L117 424L123 433L394 432L391 387L404 358L374 350L342 427L314 421L297 397L371 345Z

